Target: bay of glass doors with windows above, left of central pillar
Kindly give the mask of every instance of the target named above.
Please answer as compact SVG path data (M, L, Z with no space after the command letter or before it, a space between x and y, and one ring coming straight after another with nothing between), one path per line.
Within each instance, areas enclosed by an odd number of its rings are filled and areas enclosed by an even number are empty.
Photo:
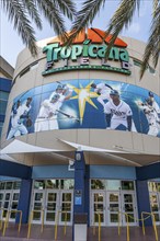
M42 223L44 211L45 225L55 225L57 215L58 225L72 225L73 180L35 181L31 207L34 223Z

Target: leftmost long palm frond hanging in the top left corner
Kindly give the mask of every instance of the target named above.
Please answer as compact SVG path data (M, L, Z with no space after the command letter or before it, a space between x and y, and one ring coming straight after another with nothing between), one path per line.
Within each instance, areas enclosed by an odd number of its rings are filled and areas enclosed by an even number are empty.
M37 55L37 47L35 44L35 32L27 19L25 7L18 0L1 0L1 5L8 13L9 21L13 23L14 28L22 37L23 43L28 47L33 56Z

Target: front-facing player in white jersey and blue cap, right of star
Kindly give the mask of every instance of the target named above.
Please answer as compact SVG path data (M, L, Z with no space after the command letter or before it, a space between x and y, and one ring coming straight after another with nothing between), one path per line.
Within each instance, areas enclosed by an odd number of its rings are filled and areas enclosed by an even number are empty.
M119 100L116 90L110 93L110 101L104 106L107 129L132 130L133 112L127 103Z

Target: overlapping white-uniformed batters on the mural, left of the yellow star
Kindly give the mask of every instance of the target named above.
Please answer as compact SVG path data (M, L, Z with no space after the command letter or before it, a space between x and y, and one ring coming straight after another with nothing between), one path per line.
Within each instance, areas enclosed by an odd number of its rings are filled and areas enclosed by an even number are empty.
M39 113L35 119L34 131L59 129L58 113L69 117L69 115L60 111L60 107L64 101L69 100L71 95L72 90L67 89L66 84L58 84L49 99L42 103Z

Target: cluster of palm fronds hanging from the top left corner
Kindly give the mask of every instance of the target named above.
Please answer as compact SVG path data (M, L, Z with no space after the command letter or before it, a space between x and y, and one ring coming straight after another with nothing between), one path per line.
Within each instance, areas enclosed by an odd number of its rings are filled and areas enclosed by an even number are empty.
M67 41L64 18L67 16L72 21L76 15L71 0L0 0L0 7L4 9L9 21L13 23L33 56L36 56L37 47L32 25L34 23L38 30L43 28L41 14L44 14L61 41Z

